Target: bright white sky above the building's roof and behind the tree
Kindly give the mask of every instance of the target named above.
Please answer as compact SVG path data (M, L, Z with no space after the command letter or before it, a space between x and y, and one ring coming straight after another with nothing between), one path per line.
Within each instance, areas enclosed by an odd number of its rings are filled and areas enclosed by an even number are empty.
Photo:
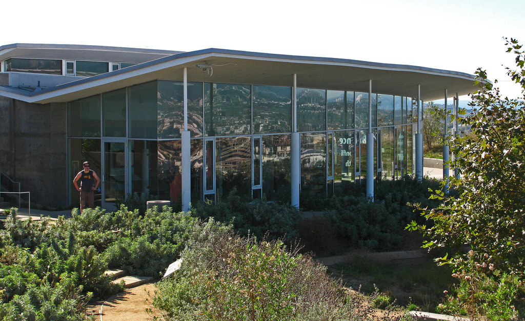
M481 67L503 96L523 98L506 75L515 56L503 37L525 44L524 12L525 0L25 0L9 2L0 45L223 48L468 74Z

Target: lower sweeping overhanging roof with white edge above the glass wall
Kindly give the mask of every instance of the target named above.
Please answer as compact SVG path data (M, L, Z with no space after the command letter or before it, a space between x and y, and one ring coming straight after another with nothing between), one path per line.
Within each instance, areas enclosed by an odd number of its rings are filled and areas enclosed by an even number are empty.
M213 74L197 68L212 64ZM421 85L424 101L451 95L466 95L477 90L474 75L457 71L369 61L253 53L226 49L204 49L175 54L53 88L13 94L0 89L0 95L28 102L48 103L76 100L154 79L182 80L187 67L188 81L226 82L272 86L297 86L332 90L369 90L379 94L417 97ZM17 96L17 97L14 97Z

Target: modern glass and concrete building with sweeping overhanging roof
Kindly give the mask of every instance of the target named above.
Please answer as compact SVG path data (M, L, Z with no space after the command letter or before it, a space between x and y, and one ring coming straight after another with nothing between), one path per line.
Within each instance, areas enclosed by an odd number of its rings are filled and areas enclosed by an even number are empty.
M0 62L0 171L50 206L78 206L85 160L108 209L135 192L299 206L365 181L373 198L374 179L421 177L422 102L475 90L456 71L213 48L13 44Z

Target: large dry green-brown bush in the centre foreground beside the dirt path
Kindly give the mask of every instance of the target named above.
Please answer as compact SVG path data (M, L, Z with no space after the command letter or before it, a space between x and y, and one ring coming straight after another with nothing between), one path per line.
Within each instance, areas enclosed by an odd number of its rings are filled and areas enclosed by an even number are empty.
M279 240L240 237L213 219L197 227L153 305L177 320L346 320L372 312L311 257Z

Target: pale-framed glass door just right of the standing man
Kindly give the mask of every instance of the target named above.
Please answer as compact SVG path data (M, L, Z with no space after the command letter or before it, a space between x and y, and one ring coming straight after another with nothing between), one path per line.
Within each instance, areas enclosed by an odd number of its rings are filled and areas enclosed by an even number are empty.
M102 208L114 211L128 190L128 143L125 140L102 141Z

